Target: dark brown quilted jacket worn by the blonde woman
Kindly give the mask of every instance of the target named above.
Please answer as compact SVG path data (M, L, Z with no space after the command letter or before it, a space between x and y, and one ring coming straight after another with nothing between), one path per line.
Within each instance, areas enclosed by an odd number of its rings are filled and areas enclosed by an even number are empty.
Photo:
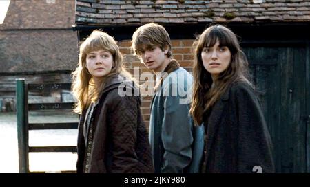
M120 96L118 87L137 91L132 82L113 76L92 115L93 135L88 173L154 173L147 130L138 96ZM129 90L128 90L129 89ZM128 93L128 92L127 92ZM87 149L83 137L85 111L79 122L77 173L83 173Z

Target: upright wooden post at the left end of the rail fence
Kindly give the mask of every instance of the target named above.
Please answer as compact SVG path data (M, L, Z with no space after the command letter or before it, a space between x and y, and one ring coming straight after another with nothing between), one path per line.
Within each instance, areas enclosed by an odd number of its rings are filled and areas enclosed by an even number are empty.
M28 119L26 116L26 104L28 104L25 93L25 79L16 80L17 100L17 137L19 147L19 173L28 173Z

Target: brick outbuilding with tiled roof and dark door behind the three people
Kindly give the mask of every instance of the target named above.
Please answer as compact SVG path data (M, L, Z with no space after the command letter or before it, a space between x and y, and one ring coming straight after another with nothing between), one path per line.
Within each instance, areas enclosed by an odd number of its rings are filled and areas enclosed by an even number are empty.
M132 33L154 22L170 34L173 54L192 71L192 43L211 23L227 25L249 58L274 145L277 173L310 173L310 2L302 0L76 0L79 41L92 30L114 36L131 72L147 69L130 52ZM152 97L143 98L149 121ZM148 124L148 123L147 123Z

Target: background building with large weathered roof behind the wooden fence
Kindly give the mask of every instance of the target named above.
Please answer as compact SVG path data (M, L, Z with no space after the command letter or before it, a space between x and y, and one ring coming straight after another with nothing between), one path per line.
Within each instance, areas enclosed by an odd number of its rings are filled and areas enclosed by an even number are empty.
M15 79L70 83L78 62L73 32L75 1L10 1L0 25L0 112L14 111ZM68 93L30 94L30 101L56 102ZM63 98L61 98L64 96Z

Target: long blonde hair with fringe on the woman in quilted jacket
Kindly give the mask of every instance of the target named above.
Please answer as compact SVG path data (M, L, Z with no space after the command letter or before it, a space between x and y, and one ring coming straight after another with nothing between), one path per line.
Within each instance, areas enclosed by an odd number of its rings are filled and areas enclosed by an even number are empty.
M85 66L87 54L97 50L110 52L114 61L114 66L112 66L108 74L102 77L99 87L95 86L92 75ZM105 80L115 74L122 74L125 78L132 79L131 74L123 67L123 56L113 37L105 32L94 30L81 44L79 50L79 66L72 73L72 93L77 99L74 112L81 114L91 102L97 100L100 92L105 87Z

